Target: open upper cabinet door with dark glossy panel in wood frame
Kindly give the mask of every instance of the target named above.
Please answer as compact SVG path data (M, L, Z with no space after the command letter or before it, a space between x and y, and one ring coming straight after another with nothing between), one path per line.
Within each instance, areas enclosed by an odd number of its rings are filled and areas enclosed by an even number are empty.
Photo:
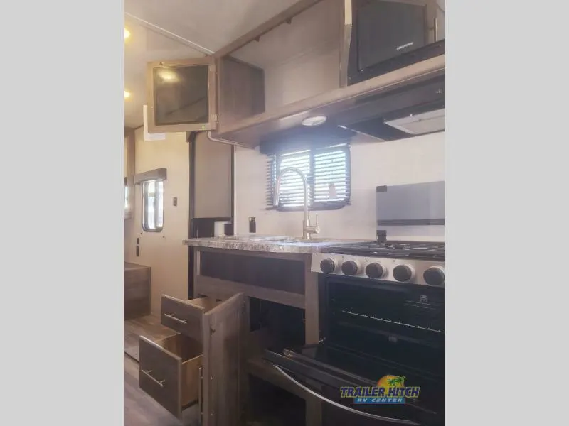
M149 62L147 101L149 133L216 129L213 58Z

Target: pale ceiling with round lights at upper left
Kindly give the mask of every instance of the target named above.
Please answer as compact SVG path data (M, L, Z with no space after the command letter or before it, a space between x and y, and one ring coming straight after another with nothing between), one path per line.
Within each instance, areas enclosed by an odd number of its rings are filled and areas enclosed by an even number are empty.
M146 63L211 54L297 0L124 0L124 125L142 126Z

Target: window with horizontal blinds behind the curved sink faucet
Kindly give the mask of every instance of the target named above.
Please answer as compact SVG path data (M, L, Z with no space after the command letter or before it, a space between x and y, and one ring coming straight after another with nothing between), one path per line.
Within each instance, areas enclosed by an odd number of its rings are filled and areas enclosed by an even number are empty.
M350 203L350 146L347 143L326 148L270 155L268 164L267 207L274 208L277 175L285 168L302 171L308 182L308 205L312 210L341 209ZM304 208L302 178L289 172L282 176L280 210Z

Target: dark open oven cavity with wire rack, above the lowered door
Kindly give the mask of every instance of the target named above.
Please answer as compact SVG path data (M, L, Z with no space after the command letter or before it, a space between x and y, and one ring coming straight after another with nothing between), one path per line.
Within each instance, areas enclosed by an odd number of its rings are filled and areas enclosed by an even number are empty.
M326 288L329 340L365 354L378 354L417 368L442 371L443 289L334 280ZM416 356L417 346L425 359Z

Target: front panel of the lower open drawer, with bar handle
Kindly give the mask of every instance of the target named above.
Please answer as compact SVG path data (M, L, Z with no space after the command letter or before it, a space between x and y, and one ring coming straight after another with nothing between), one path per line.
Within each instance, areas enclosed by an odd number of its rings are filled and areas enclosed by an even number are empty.
M140 388L181 419L181 359L141 336L139 366Z

